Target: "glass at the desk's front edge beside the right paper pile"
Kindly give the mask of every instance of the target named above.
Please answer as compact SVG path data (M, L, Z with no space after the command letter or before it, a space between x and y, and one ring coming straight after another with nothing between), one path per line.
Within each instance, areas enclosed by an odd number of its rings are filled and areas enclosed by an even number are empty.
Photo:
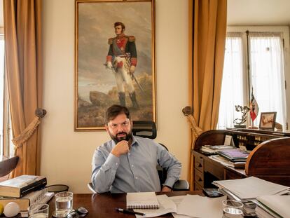
M223 218L242 218L244 204L237 200L223 200Z

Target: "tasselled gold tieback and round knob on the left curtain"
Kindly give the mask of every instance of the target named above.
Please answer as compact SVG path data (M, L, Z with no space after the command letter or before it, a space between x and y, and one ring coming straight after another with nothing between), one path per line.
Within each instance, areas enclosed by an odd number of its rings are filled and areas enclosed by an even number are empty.
M22 144L27 142L27 140L32 137L36 128L39 126L39 123L41 123L40 118L43 118L44 116L46 116L45 109L36 109L35 117L33 118L32 122L27 126L27 128L25 128L25 130L20 133L20 135L12 139L13 144L15 144L15 151L22 147Z

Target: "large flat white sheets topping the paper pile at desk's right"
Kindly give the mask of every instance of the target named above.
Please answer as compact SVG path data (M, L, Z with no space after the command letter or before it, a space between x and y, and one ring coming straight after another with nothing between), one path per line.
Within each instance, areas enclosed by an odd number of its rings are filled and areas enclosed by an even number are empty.
M268 182L257 177L214 181L214 185L219 186L220 189L230 191L240 199L253 199L258 196L289 193L289 187Z

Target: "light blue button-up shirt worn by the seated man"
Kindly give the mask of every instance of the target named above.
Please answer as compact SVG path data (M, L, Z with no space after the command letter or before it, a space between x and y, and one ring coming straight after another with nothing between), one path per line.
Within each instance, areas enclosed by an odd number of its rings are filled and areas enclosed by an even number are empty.
M165 185L179 179L181 163L152 139L133 136L131 149L119 158L111 154L113 140L102 144L92 158L92 186L98 193L161 191L156 165L167 168Z

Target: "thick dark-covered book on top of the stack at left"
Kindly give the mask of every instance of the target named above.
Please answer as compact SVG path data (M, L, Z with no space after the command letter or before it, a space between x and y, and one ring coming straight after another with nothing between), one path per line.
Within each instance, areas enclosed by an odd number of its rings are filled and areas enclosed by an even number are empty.
M0 196L20 198L27 193L43 189L47 184L46 177L21 175L0 182Z

